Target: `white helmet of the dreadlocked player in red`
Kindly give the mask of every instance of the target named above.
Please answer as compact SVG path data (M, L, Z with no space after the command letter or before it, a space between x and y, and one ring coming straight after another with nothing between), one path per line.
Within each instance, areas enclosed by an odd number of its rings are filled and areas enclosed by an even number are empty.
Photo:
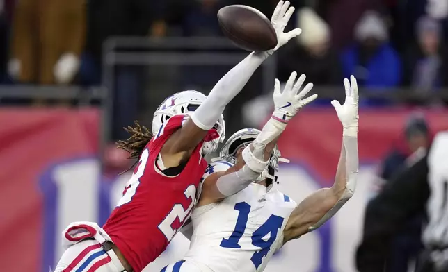
M152 119L152 135L156 135L159 132L159 128L170 117L177 114L191 114L194 112L202 102L205 101L207 96L198 91L184 91L177 92L172 96L168 96L154 112ZM205 154L211 153L218 148L218 144L224 141L225 138L225 122L224 117L221 117L216 121L214 129L218 132L218 139L213 139L210 142L205 142L202 151Z

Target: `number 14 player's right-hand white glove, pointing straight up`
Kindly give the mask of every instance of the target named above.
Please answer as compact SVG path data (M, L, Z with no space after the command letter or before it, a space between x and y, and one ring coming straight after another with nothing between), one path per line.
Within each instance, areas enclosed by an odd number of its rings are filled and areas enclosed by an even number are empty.
M344 78L345 102L341 105L339 101L331 101L331 105L335 107L337 117L341 121L344 130L342 135L358 137L358 84L356 78L350 76L351 84L347 78Z

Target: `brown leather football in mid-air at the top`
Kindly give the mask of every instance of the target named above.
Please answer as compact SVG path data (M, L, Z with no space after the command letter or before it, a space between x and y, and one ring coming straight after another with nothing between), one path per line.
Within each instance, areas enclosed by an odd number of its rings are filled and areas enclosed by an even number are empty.
M234 44L247 51L266 51L277 46L277 35L266 16L250 6L232 5L218 11L219 26Z

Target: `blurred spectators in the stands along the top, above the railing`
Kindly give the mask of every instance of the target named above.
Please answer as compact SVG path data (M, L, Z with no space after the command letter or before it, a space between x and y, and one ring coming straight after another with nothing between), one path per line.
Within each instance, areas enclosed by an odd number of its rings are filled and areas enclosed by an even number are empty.
M3 83L98 85L108 37L220 36L222 6L246 4L269 15L275 2L1 0L0 74ZM292 2L299 12L290 27L303 34L280 51L280 79L297 70L316 85L350 74L366 87L425 93L447 85L446 1Z

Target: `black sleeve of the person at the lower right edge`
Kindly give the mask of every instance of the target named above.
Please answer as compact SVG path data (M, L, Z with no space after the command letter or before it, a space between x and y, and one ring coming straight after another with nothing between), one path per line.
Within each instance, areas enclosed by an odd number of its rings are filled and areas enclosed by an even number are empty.
M387 182L367 205L364 234L356 253L360 272L383 271L390 240L403 223L424 211L429 197L427 156Z

